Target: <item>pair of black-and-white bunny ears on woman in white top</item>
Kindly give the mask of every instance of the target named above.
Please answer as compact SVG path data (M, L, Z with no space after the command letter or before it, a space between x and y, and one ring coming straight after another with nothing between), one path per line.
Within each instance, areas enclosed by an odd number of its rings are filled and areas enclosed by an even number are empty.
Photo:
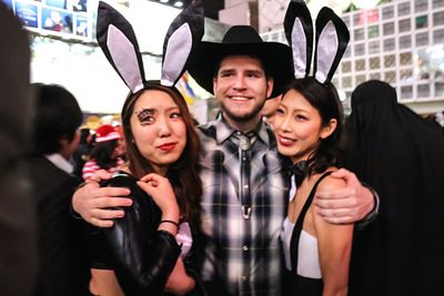
M284 20L285 35L293 51L294 76L310 74L313 54L313 21L305 3L292 0ZM345 23L330 8L322 8L316 19L313 76L320 83L330 82L349 44Z

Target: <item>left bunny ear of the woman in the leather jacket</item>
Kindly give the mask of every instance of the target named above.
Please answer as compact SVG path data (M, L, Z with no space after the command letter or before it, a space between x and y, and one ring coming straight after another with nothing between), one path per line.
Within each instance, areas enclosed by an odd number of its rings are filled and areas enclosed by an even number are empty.
M108 61L135 93L144 88L144 70L138 40L128 20L105 2L99 2L97 40Z

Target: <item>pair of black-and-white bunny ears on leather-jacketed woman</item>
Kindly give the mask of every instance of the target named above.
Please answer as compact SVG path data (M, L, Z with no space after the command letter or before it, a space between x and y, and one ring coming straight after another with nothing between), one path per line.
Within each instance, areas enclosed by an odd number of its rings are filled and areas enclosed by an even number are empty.
M160 84L173 86L185 71L186 61L203 35L203 7L190 3L171 23L163 42ZM128 20L105 2L99 2L97 40L108 61L135 93L147 86L142 54Z

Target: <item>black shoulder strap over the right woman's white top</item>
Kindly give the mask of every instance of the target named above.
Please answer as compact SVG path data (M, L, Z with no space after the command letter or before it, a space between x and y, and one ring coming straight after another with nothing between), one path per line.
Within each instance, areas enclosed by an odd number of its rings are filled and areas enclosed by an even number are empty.
M292 233L292 238L290 242L290 258L292 262L292 272L296 273L297 272L297 253L299 253L299 239L301 237L301 232L302 232L302 226L304 224L304 220L305 220L305 214L309 211L312 202L313 202L313 197L314 194L316 193L316 188L319 183L321 183L322 180L324 180L327 175L330 175L332 172L326 172L324 173L317 181L316 183L313 185L312 191L310 192L309 197L305 201L304 206L301 210L301 214L299 214L299 217L296 220L296 223L294 225L294 229Z

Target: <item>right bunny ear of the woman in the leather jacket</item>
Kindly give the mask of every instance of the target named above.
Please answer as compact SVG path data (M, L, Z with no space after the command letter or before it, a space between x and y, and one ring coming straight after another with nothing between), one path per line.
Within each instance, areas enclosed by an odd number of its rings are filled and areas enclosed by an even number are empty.
M202 1L192 1L171 23L163 42L161 84L172 86L185 71L186 61L203 37Z

